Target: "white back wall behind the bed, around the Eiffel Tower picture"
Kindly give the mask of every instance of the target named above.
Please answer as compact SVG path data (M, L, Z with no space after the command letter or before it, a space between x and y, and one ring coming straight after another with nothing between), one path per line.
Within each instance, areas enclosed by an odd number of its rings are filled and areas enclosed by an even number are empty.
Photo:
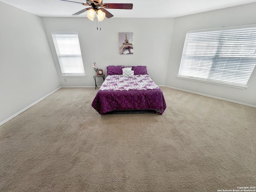
M101 30L88 18L42 18L62 86L94 86L92 64L106 74L108 65L146 65L157 85L164 85L173 18L105 18ZM98 22L99 28L99 22ZM51 32L78 32L86 77L61 77ZM119 32L133 32L134 54L120 55Z

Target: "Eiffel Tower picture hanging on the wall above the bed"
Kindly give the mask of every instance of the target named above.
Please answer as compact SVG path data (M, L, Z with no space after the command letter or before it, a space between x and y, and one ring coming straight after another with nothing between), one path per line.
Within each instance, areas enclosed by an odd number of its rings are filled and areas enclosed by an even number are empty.
M133 33L119 33L119 54L133 54L132 43Z

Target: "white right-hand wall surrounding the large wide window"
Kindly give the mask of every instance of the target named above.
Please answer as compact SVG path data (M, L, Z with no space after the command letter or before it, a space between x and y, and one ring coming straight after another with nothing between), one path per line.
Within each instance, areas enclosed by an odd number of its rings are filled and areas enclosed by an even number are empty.
M252 72L246 89L176 78L187 30L253 24L256 23L255 10L256 3L252 3L175 18L165 85L256 106L256 69Z

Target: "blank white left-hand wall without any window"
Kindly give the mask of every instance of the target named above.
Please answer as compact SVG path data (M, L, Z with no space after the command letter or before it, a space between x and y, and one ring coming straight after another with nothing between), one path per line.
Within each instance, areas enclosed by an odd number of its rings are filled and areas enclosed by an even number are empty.
M0 123L60 87L42 18L0 2Z

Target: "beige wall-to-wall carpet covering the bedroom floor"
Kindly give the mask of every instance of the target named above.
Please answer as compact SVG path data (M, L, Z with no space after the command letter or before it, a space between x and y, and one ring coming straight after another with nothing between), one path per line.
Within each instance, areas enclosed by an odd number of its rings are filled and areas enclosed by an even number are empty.
M3 192L216 192L256 186L256 108L161 88L164 114L100 115L61 88L0 126Z

